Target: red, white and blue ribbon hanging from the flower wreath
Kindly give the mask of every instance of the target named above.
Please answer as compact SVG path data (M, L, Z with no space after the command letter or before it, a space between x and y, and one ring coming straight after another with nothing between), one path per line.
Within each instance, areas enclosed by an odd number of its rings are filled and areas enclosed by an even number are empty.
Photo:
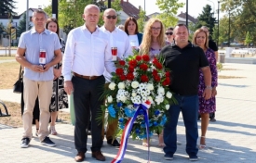
M147 143L149 144L149 119L148 119L148 108L150 107L150 101L146 101L143 104L134 104L134 107L137 107L136 112L134 113L133 117L131 119L128 119L128 122L123 130L121 144L118 150L118 153L116 157L113 159L111 163L120 163L123 158L125 157L127 146L128 146L128 136L132 129L134 121L137 119L138 114L140 111L143 111L144 120L145 120L145 126L146 126L146 132L147 132ZM150 162L149 157L149 145L148 145L148 162Z

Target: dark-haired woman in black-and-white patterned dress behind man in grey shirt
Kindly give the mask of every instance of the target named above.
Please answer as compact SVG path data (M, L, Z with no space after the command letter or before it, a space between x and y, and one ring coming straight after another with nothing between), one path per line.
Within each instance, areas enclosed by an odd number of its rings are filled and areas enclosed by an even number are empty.
M59 24L57 19L47 19L46 28L49 31L56 32L59 36ZM60 36L59 36L60 37ZM60 38L61 42L61 52L64 53L65 44ZM64 78L61 75L62 64L59 63L53 69L54 71L54 81L52 87L52 96L51 96L51 103L49 106L50 111L50 127L49 132L53 135L56 135L57 132L55 130L55 122L58 117L58 111L61 108L68 107L68 95L64 92Z

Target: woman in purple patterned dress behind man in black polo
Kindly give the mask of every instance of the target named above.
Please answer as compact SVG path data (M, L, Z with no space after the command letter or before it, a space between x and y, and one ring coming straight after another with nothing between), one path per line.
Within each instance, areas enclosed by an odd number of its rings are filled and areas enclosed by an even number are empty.
M199 97L199 114L201 115L201 138L200 138L200 144L199 149L206 148L206 132L209 125L209 113L216 111L216 101L215 101L215 95L217 94L216 87L217 87L217 68L216 68L216 57L214 54L214 51L211 50L208 46L208 35L206 31L203 31L202 29L198 29L194 33L193 37L193 44L196 44L200 46L209 61L209 68L211 72L211 98L209 100L205 100L203 96L203 92L206 88L205 82L204 82L204 75L199 70L199 86L198 86L198 97Z

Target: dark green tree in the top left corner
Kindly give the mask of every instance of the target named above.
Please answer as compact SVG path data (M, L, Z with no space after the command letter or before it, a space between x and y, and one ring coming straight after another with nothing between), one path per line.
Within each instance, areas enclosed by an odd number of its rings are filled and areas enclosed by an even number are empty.
M11 15L17 15L16 12L13 11L16 7L14 4L16 1L14 0L1 0L0 1L0 16L4 16L8 14L9 16Z

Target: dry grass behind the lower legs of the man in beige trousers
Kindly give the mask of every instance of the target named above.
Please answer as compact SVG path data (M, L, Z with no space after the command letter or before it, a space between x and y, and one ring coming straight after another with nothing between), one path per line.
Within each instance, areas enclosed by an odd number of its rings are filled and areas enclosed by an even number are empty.
M20 104L7 101L4 101L4 103L10 117L0 117L0 123L11 127L22 127ZM0 105L0 109L2 113L6 113L2 105ZM71 123L70 114L61 110L59 110L58 119L61 119L59 123Z

